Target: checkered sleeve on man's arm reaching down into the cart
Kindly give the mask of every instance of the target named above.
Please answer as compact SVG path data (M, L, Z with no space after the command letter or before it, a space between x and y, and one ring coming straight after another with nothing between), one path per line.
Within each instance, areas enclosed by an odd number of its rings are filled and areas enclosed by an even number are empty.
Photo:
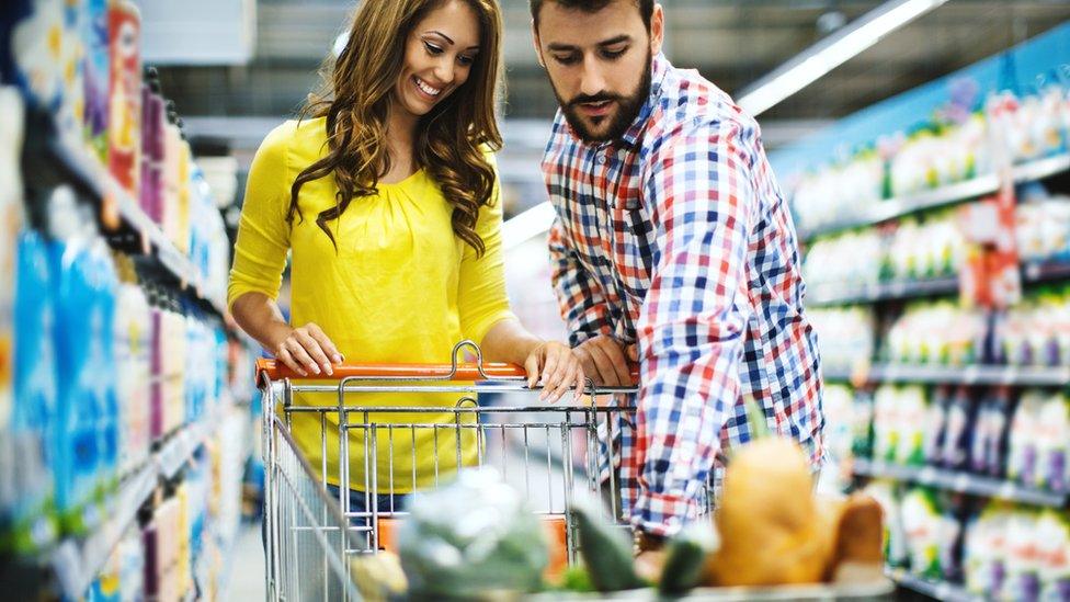
M739 397L751 311L748 238L758 213L750 172L759 143L751 124L681 126L656 148L644 182L658 251L636 325L642 387L631 521L657 535L697 515Z

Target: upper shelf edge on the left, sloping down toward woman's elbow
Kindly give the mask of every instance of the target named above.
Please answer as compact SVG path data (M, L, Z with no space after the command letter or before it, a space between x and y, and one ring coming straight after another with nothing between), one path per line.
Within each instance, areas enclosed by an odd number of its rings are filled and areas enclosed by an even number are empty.
M220 316L226 314L226 303L221 298L205 298L204 287L193 262L184 255L163 234L163 229L141 209L129 193L101 164L100 160L70 141L59 141L50 150L68 167L79 180L92 189L99 198L115 198L118 214L132 229L141 237L146 250L155 250L160 264L170 272L182 287L191 287L197 297L206 300Z

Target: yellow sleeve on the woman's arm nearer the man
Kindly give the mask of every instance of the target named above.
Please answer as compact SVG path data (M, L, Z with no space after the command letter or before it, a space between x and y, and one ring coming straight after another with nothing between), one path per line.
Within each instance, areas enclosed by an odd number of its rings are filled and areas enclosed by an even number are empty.
M494 164L494 158L487 158ZM502 201L498 170L494 170L494 190L490 205L480 207L476 232L487 250L476 257L476 250L464 245L460 260L460 291L457 305L460 313L460 330L466 339L482 343L487 332L501 320L513 318L505 294L505 261L501 240Z

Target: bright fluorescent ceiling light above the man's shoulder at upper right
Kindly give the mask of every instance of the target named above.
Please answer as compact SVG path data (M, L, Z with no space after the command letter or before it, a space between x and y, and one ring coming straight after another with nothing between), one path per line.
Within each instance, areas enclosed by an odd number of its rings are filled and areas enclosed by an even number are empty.
M947 0L889 0L747 87L737 100L760 115Z

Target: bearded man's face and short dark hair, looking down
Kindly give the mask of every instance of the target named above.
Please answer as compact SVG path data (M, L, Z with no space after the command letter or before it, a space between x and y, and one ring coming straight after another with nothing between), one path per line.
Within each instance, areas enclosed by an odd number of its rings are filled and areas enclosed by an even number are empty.
M650 92L650 59L661 52L664 16L647 31L633 0L597 12L543 4L535 49L572 130L588 143L621 137Z

